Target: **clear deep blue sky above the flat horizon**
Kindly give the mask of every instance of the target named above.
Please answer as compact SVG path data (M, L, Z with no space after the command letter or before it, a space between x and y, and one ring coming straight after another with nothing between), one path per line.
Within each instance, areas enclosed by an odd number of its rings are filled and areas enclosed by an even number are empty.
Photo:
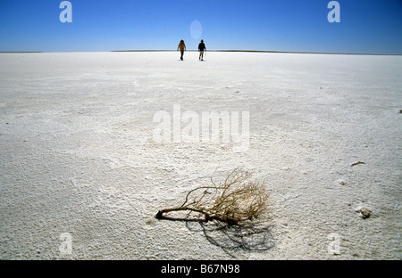
M402 0L0 0L0 51L197 49L402 54ZM191 33L191 23L202 27ZM198 25L199 26L199 25Z

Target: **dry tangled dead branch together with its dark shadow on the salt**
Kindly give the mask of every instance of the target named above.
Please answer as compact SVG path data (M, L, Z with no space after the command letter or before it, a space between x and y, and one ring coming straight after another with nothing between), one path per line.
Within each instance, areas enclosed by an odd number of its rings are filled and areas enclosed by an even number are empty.
M211 186L191 190L180 207L159 210L155 217L185 221L190 231L204 233L233 258L232 251L238 249L271 249L272 225L265 214L269 193L264 183L252 180L251 173L242 168L230 171L220 183L214 182L214 174Z

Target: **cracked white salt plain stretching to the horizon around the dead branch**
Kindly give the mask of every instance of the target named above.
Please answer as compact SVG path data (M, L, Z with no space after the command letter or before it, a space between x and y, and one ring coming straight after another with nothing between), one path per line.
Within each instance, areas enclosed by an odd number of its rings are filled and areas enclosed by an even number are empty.
M401 73L401 56L0 54L0 258L401 259ZM203 140L213 111L244 140ZM236 167L271 192L251 248L155 219Z

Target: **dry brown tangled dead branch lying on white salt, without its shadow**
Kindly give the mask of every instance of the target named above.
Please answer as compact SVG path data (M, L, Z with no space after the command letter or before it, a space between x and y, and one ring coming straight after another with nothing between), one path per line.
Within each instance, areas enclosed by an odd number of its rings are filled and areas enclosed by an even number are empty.
M216 172L216 170L215 170ZM242 168L232 170L220 184L201 186L186 195L180 207L165 208L156 214L157 219L186 220L207 223L215 220L228 225L239 225L260 216L267 208L269 193L264 184L251 179ZM187 211L193 218L172 217L174 212Z

